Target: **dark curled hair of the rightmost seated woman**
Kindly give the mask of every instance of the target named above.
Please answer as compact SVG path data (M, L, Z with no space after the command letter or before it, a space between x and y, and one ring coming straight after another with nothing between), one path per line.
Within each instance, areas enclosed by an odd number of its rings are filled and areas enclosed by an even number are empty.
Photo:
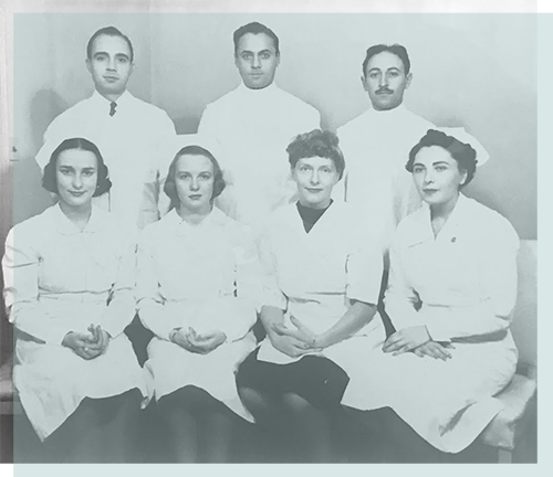
M428 129L425 136L420 138L418 144L410 150L409 160L405 165L405 169L413 172L413 167L415 163L415 157L418 151L424 147L439 146L446 149L451 157L457 161L457 167L460 171L467 172L467 180L461 188L467 186L474 177L477 170L477 151L472 146L461 142L452 136L448 136L446 132L438 131L436 129Z

